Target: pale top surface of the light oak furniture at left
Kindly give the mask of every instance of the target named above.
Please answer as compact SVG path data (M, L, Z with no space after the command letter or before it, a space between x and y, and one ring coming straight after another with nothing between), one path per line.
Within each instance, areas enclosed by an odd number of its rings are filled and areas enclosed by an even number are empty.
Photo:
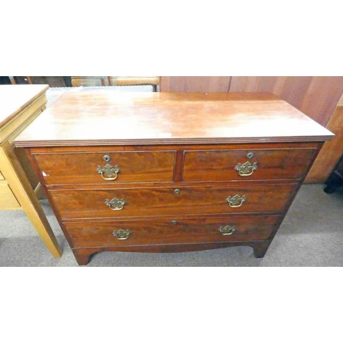
M0 85L0 130L47 91L47 84Z

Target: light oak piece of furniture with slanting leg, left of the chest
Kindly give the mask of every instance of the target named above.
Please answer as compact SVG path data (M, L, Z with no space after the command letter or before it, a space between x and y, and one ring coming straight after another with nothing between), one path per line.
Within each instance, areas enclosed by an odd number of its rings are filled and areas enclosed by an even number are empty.
M62 250L32 188L38 179L27 156L20 149L14 152L13 146L15 137L45 109L47 88L46 84L0 86L0 210L25 211L52 255L60 257ZM39 187L34 188L38 192Z

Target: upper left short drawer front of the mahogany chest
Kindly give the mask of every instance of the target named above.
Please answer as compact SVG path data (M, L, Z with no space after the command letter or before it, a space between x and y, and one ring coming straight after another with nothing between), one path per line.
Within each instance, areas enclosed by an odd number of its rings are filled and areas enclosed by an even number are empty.
M176 152L33 154L46 185L171 182ZM105 180L106 179L106 180Z

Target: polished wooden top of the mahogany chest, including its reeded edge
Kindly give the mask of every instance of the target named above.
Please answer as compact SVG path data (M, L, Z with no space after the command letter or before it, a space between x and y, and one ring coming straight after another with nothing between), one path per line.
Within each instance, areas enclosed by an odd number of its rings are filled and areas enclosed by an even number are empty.
M14 144L326 141L333 134L269 93L64 93Z

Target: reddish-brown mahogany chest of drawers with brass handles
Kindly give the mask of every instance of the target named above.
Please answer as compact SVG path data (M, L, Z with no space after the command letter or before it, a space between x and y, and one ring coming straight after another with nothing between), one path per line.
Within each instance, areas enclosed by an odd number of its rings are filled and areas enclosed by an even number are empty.
M268 93L64 94L24 147L79 264L99 251L265 255L329 130Z

